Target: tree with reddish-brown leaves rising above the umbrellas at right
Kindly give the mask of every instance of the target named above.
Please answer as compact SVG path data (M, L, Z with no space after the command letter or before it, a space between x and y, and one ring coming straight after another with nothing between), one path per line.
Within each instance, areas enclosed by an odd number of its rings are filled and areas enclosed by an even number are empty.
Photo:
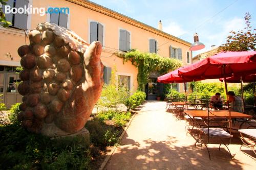
M256 29L253 29L251 32L251 26L250 26L250 19L251 15L249 12L245 14L245 24L246 27L244 30L241 31L230 31L232 35L227 36L227 40L225 44L222 44L219 48L220 51L255 51L255 45L256 45L256 34L254 31Z

